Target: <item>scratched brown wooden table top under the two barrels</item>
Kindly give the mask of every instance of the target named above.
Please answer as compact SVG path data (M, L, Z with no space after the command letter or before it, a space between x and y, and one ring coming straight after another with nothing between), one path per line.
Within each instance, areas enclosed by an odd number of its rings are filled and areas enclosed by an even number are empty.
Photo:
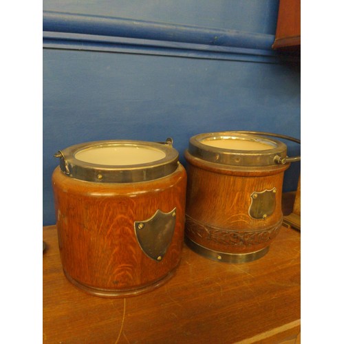
M300 331L300 232L292 228L282 226L268 254L245 264L184 245L171 280L125 299L67 281L56 226L43 228L43 241L44 343L276 343Z

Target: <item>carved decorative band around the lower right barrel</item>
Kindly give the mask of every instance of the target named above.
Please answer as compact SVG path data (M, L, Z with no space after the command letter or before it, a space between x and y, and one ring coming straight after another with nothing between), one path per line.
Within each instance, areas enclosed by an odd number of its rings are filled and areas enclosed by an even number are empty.
M283 218L275 225L260 230L235 230L201 224L186 215L185 233L187 237L200 237L217 244L230 246L254 246L274 239L279 233Z

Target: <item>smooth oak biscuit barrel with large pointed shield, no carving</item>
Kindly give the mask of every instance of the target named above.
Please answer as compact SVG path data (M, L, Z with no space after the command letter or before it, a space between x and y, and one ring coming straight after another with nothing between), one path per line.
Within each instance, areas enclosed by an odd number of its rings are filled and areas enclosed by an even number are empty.
M168 281L184 241L186 171L166 142L108 140L55 155L56 226L65 276L125 297Z

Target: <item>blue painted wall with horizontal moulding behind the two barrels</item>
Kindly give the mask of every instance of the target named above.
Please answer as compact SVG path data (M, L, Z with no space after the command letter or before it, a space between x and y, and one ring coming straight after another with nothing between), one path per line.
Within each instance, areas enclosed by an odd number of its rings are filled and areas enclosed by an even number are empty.
M43 225L55 223L53 155L72 144L171 136L184 164L196 133L258 130L300 138L299 63L269 48L278 1L146 5L43 3L45 10L87 14L43 13ZM299 154L297 144L288 146L289 155ZM284 191L295 190L298 178L296 163Z

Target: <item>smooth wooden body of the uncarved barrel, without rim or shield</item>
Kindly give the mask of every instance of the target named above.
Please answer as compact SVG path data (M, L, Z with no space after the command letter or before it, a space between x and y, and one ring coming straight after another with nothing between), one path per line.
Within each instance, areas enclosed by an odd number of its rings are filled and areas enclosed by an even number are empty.
M67 177L57 167L52 184L61 261L68 278L78 286L103 294L137 293L160 283L178 266L186 194L182 164L157 180L104 184ZM140 247L134 223L153 217L158 210L170 213L173 209L171 242L157 261Z

